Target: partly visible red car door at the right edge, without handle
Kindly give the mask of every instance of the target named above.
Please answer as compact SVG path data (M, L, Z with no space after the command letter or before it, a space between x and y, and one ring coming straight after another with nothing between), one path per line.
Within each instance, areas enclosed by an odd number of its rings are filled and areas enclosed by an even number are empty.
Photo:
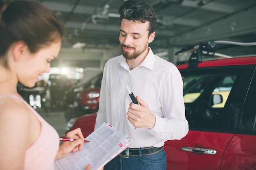
M252 80L238 128L227 146L221 170L256 170L256 75Z

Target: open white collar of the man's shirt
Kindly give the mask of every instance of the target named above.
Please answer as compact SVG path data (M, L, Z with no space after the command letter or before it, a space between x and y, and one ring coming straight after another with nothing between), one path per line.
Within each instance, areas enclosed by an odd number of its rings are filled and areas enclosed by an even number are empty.
M147 55L146 58L143 60L143 62L142 62L141 64L139 64L139 66L138 66L137 68L139 68L139 67L141 67L141 66L144 66L144 67L146 67L146 68L148 68L148 69L150 69L150 70L153 70L154 58L155 58L155 56L154 56L154 53L153 53L153 51L151 50L151 48L150 48L150 47L148 47L148 48L149 48L148 55ZM127 64L127 62L126 62L126 59L124 58L123 55L121 55L121 57L119 58L119 60L117 61L117 63L120 64L120 65L121 65L122 67L124 67L125 69L129 70L129 66L128 66L128 64Z

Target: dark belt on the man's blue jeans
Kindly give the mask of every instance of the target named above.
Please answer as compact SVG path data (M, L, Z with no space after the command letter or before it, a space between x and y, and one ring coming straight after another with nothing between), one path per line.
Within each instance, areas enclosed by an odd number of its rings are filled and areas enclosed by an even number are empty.
M163 146L160 148L155 148L155 147L147 147L147 148L141 148L141 156L148 156L148 155L154 155L161 150L163 150ZM139 156L139 148L126 148L123 152L119 154L119 157L122 158L128 158L130 156Z

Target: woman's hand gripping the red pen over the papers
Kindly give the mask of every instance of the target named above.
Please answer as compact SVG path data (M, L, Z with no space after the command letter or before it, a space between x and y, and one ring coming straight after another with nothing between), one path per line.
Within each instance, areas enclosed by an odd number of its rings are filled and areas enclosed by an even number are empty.
M76 139L75 141L63 141L58 149L55 160L66 157L70 152L76 152L83 148L84 137L80 128L67 132L66 137Z

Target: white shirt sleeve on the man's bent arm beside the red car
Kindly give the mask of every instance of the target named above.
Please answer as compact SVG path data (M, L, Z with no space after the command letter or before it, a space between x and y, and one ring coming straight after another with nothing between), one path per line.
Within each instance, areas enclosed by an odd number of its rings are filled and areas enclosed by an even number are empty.
M178 70L166 78L160 92L160 102L163 117L156 116L155 126L150 133L162 140L182 139L189 131L189 124L185 117L183 81Z

